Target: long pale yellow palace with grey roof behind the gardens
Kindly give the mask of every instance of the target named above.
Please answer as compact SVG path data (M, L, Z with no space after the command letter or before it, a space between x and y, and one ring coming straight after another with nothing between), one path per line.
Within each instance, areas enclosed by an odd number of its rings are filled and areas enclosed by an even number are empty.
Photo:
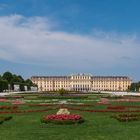
M70 76L32 76L39 91L127 91L132 80L127 76L92 76L72 74Z

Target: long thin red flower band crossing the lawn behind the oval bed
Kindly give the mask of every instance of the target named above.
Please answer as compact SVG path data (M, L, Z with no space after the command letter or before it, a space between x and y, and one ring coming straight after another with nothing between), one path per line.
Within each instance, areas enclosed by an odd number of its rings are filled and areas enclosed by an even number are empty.
M94 109L91 108L93 106L95 106ZM33 109L29 109L28 107L33 107ZM38 107L42 107L42 109L39 109ZM133 113L140 112L139 107L140 106L107 106L107 108L101 108L98 106L98 108L96 108L95 104L29 104L26 108L18 108L18 106L0 106L0 114L46 112L60 108L91 113Z

